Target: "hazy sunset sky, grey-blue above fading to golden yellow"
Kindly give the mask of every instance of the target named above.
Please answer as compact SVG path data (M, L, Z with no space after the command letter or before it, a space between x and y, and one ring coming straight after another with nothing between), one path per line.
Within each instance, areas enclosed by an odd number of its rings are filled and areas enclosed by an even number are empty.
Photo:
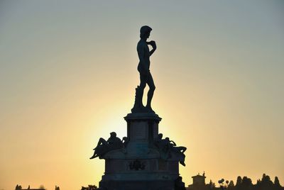
M186 186L284 185L284 1L0 1L0 189L96 184L99 138L126 136L149 40L159 132L187 147ZM148 90L148 89L146 89ZM144 102L146 100L144 99Z

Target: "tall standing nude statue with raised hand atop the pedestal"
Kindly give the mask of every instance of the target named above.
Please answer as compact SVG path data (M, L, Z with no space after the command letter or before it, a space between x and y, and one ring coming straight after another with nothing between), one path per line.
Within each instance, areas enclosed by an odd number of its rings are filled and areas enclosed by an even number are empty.
M135 104L131 109L132 113L134 112L152 112L155 113L151 107L151 101L153 98L153 94L155 91L155 84L153 81L153 77L150 72L150 56L155 52L156 45L155 41L147 42L147 38L149 38L152 28L149 26L142 26L140 29L140 38L137 44L137 52L139 57L138 64L138 72L140 74L140 85L136 88L136 97ZM152 50L149 50L148 45L152 46ZM143 91L146 87L146 84L149 86L148 96L147 96L147 104L146 107L143 106Z

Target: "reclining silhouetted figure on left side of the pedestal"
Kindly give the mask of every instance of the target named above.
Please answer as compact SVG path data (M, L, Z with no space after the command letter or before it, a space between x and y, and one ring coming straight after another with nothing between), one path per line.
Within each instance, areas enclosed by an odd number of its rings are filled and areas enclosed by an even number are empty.
M111 150L116 150L123 147L122 141L120 140L120 138L116 137L115 132L111 132L110 135L111 137L108 140L104 140L104 138L99 138L97 147L94 148L94 155L89 159L100 157Z

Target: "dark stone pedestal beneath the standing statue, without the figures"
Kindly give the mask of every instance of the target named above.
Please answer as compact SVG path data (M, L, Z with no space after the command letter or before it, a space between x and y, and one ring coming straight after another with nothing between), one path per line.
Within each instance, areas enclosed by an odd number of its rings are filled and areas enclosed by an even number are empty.
M129 113L127 143L100 157L105 172L99 188L105 190L175 190L179 159L162 160L155 147L161 118L155 113Z

